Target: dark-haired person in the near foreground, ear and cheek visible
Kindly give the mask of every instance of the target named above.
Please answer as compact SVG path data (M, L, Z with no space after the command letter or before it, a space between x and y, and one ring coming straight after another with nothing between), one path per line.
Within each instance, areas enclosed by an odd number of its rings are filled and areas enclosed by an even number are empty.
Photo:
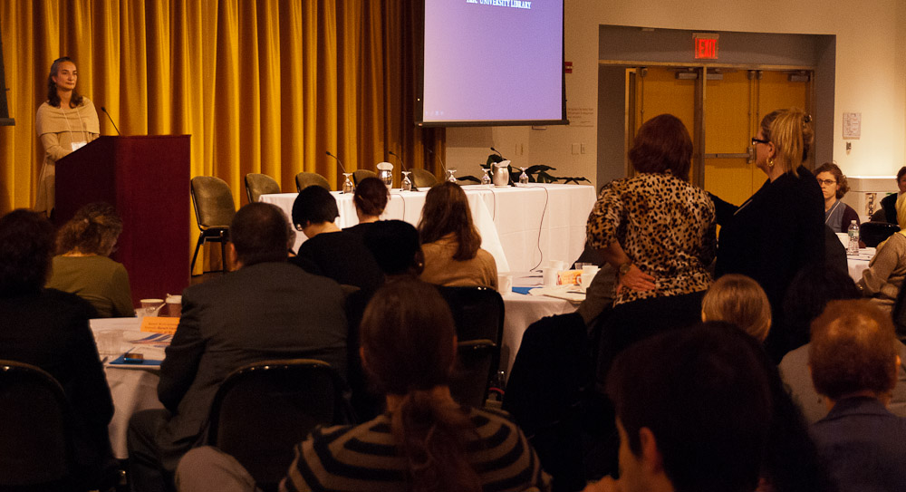
M756 344L727 325L639 342L607 390L620 434L620 478L586 491L751 491L769 446L771 391Z

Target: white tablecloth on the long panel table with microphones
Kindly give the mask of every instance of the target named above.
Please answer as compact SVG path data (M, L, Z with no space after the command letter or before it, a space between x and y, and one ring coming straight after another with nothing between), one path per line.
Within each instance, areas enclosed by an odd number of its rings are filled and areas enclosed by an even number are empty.
M492 188L465 186L472 219L481 233L481 247L487 250L498 272L531 270L546 260L575 261L585 243L585 221L595 200L590 186L531 184L526 187ZM292 219L296 193L262 195ZM339 227L358 223L352 195L333 192L340 208ZM424 191L390 193L390 202L381 218L419 223L425 205ZM295 247L306 237L296 236Z

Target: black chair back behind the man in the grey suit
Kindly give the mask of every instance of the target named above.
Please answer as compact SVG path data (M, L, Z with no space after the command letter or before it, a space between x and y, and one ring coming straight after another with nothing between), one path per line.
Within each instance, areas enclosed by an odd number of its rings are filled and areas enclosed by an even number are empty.
M352 423L346 385L330 364L263 361L229 376L211 406L207 443L236 458L258 487L276 489L293 449L318 425Z

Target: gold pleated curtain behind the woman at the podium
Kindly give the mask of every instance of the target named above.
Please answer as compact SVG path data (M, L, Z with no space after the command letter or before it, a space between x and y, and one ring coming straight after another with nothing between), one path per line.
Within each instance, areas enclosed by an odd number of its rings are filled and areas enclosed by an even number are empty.
M63 55L78 66L77 90L94 102L102 134L115 130L101 106L124 135L190 134L191 175L224 179L237 207L249 172L287 192L303 170L339 185L325 150L350 172L374 169L390 150L407 167L435 170L424 150L442 152L443 130L414 125L416 4L0 0L15 119L0 127L0 212L34 205L43 160L34 114Z

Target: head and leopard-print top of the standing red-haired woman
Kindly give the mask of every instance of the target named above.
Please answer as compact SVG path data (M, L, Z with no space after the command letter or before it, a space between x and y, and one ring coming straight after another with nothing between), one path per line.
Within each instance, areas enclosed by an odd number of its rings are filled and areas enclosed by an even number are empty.
M692 140L682 121L646 121L629 151L638 174L605 185L588 217L588 246L620 270L614 305L693 294L711 284L714 204L689 184Z

